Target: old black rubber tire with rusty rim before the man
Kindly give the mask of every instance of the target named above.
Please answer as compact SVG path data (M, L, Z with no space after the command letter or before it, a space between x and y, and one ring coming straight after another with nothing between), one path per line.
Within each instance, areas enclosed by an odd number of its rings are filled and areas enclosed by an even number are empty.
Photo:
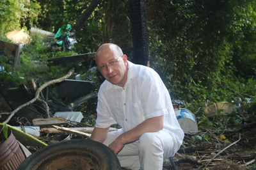
M52 144L26 158L17 170L120 170L115 153L102 143L72 139Z

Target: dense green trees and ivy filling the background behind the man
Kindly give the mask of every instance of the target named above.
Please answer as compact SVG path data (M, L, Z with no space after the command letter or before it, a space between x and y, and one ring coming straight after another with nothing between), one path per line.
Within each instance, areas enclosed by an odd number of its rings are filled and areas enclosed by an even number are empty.
M3 39L5 33L20 27L29 30L36 25L57 31L64 24L74 25L89 3L4 1L1 8L5 13L1 13L0 24L2 28L8 27L1 29L1 39L6 40ZM33 42L22 49L22 66L15 72L26 78L47 72L48 79L54 79L68 67L40 69L36 66L34 69L35 63L93 52L106 42L131 47L128 4L129 1L102 1L83 30L76 33L78 43L69 52L47 51L45 40L34 37ZM150 64L161 75L173 99L185 100L189 109L196 111L205 107L206 100L211 104L221 100L246 103L245 98L251 98L252 102L243 108L254 114L255 5L253 1L239 0L147 1ZM77 67L82 73L92 65ZM2 74L6 76L6 72Z

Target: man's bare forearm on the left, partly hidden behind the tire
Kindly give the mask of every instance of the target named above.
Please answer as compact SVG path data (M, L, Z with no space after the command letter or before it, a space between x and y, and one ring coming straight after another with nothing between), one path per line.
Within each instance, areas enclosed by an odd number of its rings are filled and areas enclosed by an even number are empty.
M109 127L107 128L97 128L95 127L92 131L92 136L90 139L93 141L98 141L99 143L103 143L108 137Z

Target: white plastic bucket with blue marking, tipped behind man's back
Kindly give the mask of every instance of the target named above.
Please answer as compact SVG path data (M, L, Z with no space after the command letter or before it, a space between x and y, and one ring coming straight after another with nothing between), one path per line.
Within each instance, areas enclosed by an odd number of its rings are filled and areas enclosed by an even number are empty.
M175 109L174 112L180 124L180 128L182 128L185 134L198 131L195 114L184 108Z

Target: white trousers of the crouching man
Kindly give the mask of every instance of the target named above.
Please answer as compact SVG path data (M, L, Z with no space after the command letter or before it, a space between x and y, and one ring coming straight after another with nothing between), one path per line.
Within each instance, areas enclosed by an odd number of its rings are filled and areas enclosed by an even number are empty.
M122 133L122 129L109 132L103 144L109 146ZM163 159L175 154L175 144L172 135L164 129L145 133L140 140L125 144L117 157L121 167L132 170L162 170Z

